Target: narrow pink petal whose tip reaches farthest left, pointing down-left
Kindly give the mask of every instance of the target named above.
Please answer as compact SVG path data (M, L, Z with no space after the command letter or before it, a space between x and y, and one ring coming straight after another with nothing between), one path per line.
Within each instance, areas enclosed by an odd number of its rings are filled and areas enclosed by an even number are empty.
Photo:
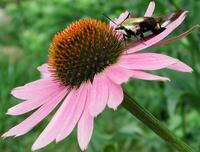
M19 123L17 126L11 128L3 137L21 136L29 132L39 122L41 122L63 99L67 89L63 89L57 96L51 98L46 104L36 110L30 117Z

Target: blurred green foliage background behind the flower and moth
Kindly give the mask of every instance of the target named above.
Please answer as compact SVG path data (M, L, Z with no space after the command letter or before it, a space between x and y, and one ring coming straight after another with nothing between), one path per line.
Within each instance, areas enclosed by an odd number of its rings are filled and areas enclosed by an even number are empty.
M20 101L10 95L16 86L39 78L37 66L47 61L52 36L80 18L97 18L108 22L122 11L143 15L147 0L0 0L0 135L29 114L5 115ZM189 10L185 22L169 37L200 23L199 0L157 0L154 16ZM130 80L126 89L141 105L163 121L170 130L200 151L200 32L171 44L146 49L179 58L194 72L183 74L170 70L157 73L171 82ZM51 116L53 113L51 114ZM0 139L1 152L29 152L34 140L51 116L26 135ZM45 147L41 152L79 152L76 132L67 139ZM162 139L123 108L106 109L95 119L95 128L87 152L175 152Z

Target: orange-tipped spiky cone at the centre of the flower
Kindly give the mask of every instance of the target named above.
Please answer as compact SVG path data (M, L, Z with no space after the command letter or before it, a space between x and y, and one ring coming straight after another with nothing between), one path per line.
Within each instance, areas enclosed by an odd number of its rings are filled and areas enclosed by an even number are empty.
M81 19L54 36L48 65L63 85L78 87L116 63L122 51L122 41L112 28L95 19Z

